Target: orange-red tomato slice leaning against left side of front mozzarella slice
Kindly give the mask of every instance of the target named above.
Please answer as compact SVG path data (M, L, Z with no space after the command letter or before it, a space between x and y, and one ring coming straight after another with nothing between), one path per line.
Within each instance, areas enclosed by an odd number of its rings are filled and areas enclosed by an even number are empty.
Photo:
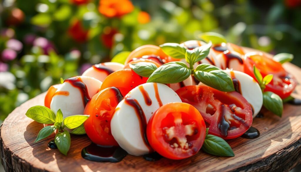
M110 87L95 94L88 102L84 114L90 117L85 121L84 127L92 142L118 146L112 136L110 124L113 112L122 98L117 88Z

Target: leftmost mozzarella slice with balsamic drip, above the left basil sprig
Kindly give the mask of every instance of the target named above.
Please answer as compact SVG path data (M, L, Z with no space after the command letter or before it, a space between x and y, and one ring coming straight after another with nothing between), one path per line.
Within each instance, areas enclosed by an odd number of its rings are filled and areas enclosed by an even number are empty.
M92 77L72 77L67 80L79 78L87 87L89 98L95 95L102 82ZM83 89L85 91L85 89ZM64 117L71 115L80 115L84 113L85 102L83 101L82 91L79 87L73 86L70 82L64 82L61 87L57 89L50 103L50 109L56 113L61 109Z

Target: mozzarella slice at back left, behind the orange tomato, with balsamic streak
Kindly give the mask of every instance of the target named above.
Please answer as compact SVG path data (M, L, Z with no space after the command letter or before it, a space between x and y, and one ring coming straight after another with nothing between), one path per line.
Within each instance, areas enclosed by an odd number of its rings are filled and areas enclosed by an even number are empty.
M116 62L106 62L93 65L88 68L82 76L93 77L101 82L111 73L123 69L124 65Z

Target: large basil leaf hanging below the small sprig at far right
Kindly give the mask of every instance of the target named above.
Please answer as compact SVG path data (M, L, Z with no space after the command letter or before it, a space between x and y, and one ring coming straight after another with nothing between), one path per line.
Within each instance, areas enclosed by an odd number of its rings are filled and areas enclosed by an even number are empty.
M283 102L279 95L267 91L263 93L263 106L275 115L281 117L283 111Z

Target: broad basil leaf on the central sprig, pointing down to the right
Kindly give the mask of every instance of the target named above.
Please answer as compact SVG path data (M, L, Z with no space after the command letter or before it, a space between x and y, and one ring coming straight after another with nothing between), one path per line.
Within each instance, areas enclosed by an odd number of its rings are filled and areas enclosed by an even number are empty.
M194 77L203 84L220 91L230 92L235 90L231 77L211 64L198 65Z

